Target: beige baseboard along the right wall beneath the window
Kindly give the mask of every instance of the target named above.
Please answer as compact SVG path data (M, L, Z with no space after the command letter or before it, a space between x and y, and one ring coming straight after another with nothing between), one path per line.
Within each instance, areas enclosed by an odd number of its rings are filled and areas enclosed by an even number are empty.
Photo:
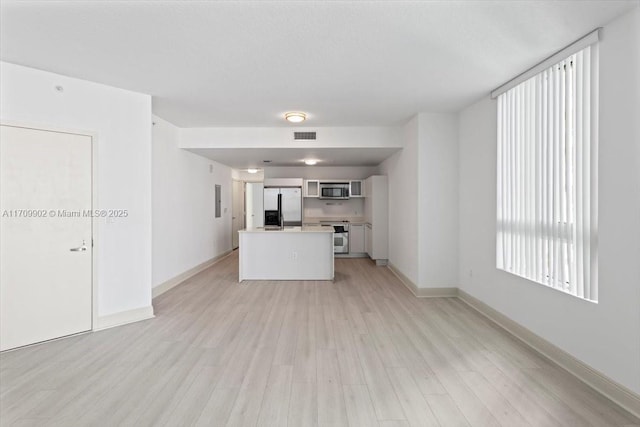
M468 293L458 289L458 297L471 308L498 324L511 335L515 336L538 353L547 357L556 365L559 365L561 368L570 372L573 376L589 385L598 393L622 406L635 416L640 417L640 395L629 390L622 384L618 384L603 373L576 359L566 351L556 347L554 344L539 335L536 335L529 329L511 320L504 314L491 308L489 305Z

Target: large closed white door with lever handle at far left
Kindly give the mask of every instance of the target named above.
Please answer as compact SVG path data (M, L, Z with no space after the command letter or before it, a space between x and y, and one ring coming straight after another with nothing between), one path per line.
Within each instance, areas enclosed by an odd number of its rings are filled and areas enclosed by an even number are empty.
M92 141L0 128L0 350L7 350L91 329Z

